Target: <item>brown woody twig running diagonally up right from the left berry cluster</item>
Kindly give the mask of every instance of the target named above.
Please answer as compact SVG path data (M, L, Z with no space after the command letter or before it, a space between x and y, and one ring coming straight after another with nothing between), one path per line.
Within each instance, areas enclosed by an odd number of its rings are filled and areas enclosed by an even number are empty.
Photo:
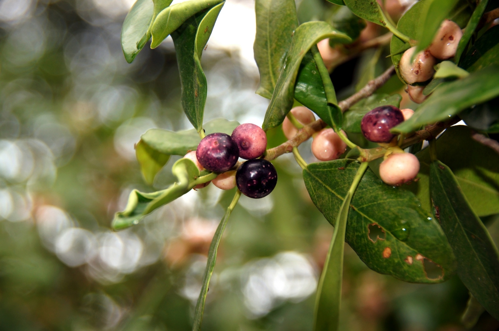
M372 95L374 91L376 91L379 87L386 83L386 81L393 75L395 72L394 67L390 67L383 74L371 80L364 86L360 91L352 95L351 97L341 101L338 106L342 112L348 110L352 105L359 102L363 98L367 98ZM267 150L265 155L265 160L271 161L281 156L285 153L290 153L293 151L293 147L298 147L301 143L308 140L312 135L320 130L324 129L327 124L322 120L314 121L302 129L298 131L298 133L285 143L280 144L277 147L271 148Z

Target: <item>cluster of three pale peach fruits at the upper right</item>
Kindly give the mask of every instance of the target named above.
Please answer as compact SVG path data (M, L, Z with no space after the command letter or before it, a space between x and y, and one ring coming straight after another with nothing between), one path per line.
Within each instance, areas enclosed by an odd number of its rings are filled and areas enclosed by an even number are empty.
M408 84L407 93L412 101L416 103L425 101L428 96L423 94L423 90L435 74L435 65L438 60L448 60L456 55L462 36L463 31L459 25L447 19L442 22L427 49L414 55L416 50L414 46L404 52L399 62L399 72Z

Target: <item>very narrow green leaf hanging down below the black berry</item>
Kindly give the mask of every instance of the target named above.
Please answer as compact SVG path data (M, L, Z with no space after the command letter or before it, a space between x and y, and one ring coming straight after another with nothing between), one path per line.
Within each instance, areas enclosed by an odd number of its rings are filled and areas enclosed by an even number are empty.
M239 197L241 196L241 191L238 189L232 202L225 212L224 217L220 221L220 224L213 236L212 243L210 244L210 250L208 251L208 261L206 263L205 274L203 275L203 286L201 288L201 293L199 294L198 303L196 304L196 310L194 311L194 324L192 327L193 331L201 330L201 321L203 320L203 312L205 310L206 295L208 294L208 285L210 284L210 279L213 275L213 270L215 270L215 264L217 263L217 250L224 234L225 227L227 226L227 221L229 216L231 216L234 207L238 203Z

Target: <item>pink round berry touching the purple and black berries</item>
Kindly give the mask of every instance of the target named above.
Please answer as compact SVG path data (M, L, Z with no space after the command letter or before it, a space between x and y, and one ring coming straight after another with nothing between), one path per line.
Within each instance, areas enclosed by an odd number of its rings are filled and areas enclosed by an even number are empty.
M241 124L232 132L232 139L238 144L239 157L250 160L260 157L267 148L267 136L259 126Z

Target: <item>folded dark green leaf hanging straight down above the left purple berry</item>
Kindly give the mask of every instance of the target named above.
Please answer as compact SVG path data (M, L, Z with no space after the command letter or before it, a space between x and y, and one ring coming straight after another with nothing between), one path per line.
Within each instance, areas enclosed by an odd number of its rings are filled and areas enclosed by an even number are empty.
M179 5L184 3L187 2L179 3ZM207 12L196 13L172 32L182 83L182 107L187 118L198 132L203 130L203 115L208 93L206 76L200 62L201 54L223 5L224 2Z

